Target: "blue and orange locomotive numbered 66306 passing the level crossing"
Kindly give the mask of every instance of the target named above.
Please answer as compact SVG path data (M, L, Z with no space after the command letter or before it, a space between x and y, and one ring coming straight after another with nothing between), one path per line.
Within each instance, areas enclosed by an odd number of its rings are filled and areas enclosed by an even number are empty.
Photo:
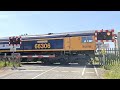
M15 53L24 56L22 61L34 60L44 64L86 64L91 62L91 57L94 57L96 51L95 30L26 35L21 36L21 40L21 45L16 46ZM9 37L0 38L0 54L11 55L11 47ZM44 57L35 58L40 55Z

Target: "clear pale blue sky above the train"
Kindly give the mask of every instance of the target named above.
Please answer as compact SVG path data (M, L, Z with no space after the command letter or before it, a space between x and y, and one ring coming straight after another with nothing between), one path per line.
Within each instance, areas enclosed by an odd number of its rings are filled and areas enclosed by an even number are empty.
M101 29L120 32L120 11L0 11L0 37Z

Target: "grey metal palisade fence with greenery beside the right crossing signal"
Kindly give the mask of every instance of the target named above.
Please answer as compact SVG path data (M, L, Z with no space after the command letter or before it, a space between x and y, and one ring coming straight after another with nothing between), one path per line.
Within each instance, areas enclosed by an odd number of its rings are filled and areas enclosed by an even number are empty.
M97 62L97 63L96 63ZM120 63L120 48L108 48L98 50L93 64L98 65L115 65Z

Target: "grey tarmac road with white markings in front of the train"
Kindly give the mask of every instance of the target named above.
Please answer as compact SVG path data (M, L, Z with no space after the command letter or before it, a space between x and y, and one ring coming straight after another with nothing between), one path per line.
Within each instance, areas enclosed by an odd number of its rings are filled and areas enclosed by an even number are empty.
M0 79L103 79L97 66L27 64L0 72Z

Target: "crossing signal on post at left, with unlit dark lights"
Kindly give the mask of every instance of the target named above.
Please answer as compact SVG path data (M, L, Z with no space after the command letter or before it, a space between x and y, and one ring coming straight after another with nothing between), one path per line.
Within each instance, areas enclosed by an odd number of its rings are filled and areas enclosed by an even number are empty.
M9 37L9 45L12 46L10 51L12 51L13 67L15 67L15 65L14 65L14 52L16 52L16 46L21 45L21 37Z

